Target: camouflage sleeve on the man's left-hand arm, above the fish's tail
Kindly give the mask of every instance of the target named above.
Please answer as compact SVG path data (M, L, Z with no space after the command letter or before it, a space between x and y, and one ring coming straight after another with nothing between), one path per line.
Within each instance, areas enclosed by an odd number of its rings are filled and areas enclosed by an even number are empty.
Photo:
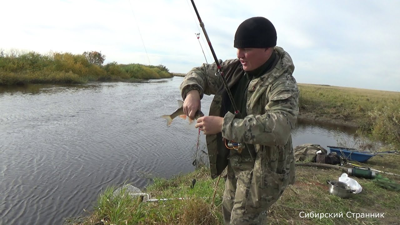
M223 67L234 60L218 60L220 66ZM215 73L218 71L216 63L202 64L202 66L192 68L186 75L180 84L180 91L182 99L186 98L186 94L190 90L198 90L200 93L200 99L203 98L204 94L211 95L215 94L218 88L222 85L222 79L220 76L216 76Z

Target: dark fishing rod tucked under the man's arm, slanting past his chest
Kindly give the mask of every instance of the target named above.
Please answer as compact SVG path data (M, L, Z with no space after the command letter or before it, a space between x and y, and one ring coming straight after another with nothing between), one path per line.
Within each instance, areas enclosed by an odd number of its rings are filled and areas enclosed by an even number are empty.
M194 11L196 12L196 15L197 15L197 18L198 18L198 20L200 22L200 26L201 26L201 28L203 30L204 36L206 37L206 40L208 42L208 46L210 46L210 50L211 50L212 56L214 57L215 64L217 65L218 72L215 73L215 76L220 76L222 78L222 82L224 83L224 87L226 89L226 92L228 93L230 101L232 102L233 110L235 112L235 117L237 117L239 119L243 119L242 113L240 113L240 111L236 108L236 104L235 104L235 101L233 99L232 93L230 92L229 87L228 87L228 83L226 82L226 79L224 77L224 72L222 72L222 70L221 70L221 65L218 62L218 58L217 58L217 56L215 54L214 48L212 47L210 38L208 37L208 34L206 32L206 28L204 28L204 23L200 18L200 14L199 14L199 12L198 12L198 10L196 8L196 5L194 4L194 0L190 0L190 1L192 2ZM237 145L237 144L238 143L235 143L235 145ZM247 150L249 151L250 157L254 161L254 158L253 158L253 155L252 155L252 153L250 151L250 148L248 147L247 143L244 143L244 144L246 145Z

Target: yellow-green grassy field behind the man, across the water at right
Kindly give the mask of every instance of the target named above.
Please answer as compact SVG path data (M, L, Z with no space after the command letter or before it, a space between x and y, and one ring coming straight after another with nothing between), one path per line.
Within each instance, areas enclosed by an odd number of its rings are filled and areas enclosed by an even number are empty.
M300 117L353 123L360 135L400 148L400 92L299 84Z

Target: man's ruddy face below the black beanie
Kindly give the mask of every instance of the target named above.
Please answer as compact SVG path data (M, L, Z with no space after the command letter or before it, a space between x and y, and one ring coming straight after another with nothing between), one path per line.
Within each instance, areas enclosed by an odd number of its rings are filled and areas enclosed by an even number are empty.
M268 50L267 48L238 48L237 56L243 70L252 71L264 64L270 57Z

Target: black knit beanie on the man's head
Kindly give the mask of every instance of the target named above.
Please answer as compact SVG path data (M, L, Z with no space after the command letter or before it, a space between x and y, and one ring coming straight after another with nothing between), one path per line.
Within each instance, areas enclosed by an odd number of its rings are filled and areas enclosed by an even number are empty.
M234 48L269 48L276 46L276 30L266 18L244 20L236 30Z

